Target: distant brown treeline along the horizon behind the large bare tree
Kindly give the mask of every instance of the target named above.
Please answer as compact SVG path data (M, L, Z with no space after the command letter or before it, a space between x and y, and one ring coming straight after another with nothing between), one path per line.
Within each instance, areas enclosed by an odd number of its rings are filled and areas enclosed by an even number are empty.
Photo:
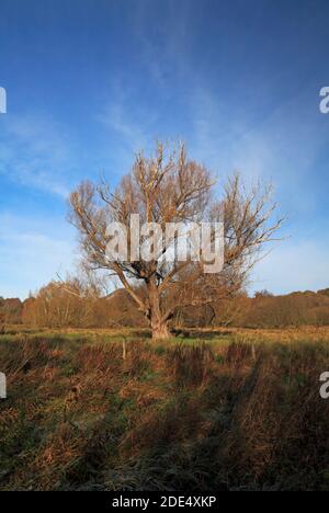
M77 283L55 282L24 301L0 297L0 329L8 324L46 328L146 327L143 315L124 289L98 297L79 289ZM286 296L274 296L263 290L252 298L241 294L202 308L178 310L172 324L186 328L329 326L329 288Z

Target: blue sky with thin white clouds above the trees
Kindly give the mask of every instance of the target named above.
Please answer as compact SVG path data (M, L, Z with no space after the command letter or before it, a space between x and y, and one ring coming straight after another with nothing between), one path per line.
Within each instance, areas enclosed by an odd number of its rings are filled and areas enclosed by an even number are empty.
M219 178L272 180L285 233L253 289L329 286L328 1L1 0L0 295L78 259L66 197L180 138Z

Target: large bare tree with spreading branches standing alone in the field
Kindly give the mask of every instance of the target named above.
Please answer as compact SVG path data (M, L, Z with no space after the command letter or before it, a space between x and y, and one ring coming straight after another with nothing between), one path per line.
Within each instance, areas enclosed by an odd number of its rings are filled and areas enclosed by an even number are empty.
M155 339L170 335L168 323L177 308L212 304L240 290L261 247L274 239L282 224L282 219L272 221L275 204L270 190L258 185L247 192L234 175L216 198L214 185L209 171L189 159L183 145L175 150L158 142L150 158L136 156L132 172L113 192L103 180L100 185L83 182L70 195L69 219L79 231L84 264L117 276L146 316ZM162 230L168 223L224 221L223 271L205 274L204 262L193 258L167 262L163 254L179 243L177 231L151 261L110 261L109 224L126 227L131 248L135 214L140 223L157 223Z

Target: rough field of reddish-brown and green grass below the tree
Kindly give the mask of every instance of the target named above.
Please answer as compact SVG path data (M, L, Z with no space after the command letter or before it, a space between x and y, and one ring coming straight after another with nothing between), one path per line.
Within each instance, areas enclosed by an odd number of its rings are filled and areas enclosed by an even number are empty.
M0 337L1 490L329 490L329 330Z

